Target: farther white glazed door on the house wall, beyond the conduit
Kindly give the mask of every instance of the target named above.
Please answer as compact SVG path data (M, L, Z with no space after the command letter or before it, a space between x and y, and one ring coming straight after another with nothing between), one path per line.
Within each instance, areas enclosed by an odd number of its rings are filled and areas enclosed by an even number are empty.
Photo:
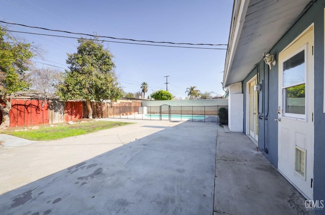
M256 84L256 79L249 83L249 135L258 141L257 91L254 90Z

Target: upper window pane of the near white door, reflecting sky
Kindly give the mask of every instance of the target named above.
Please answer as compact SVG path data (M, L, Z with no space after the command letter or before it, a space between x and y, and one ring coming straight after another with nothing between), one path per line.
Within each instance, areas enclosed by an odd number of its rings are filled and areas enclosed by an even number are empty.
M283 87L305 82L305 50L283 62Z

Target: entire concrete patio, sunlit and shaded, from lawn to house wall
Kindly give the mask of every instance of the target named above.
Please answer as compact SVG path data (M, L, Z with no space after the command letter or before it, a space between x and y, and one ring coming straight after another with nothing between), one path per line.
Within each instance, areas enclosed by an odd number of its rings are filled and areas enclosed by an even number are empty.
M312 212L242 133L128 121L136 124L0 149L1 214Z

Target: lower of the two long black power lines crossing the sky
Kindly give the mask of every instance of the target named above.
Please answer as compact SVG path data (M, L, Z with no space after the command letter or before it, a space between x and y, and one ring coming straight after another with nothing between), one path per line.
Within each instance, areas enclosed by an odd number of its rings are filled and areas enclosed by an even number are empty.
M6 31L16 32L16 33L36 34L36 35L43 35L43 36L50 36L50 37L58 37L58 38L82 39L82 40L92 40L92 41L95 40L95 39L77 38L77 37L69 37L69 36L62 36L62 35L45 34L45 33L31 33L31 32L25 32L25 31L17 31L17 30L6 30ZM143 45L143 46L160 46L160 47L188 48L188 49L227 50L226 48L204 48L204 47L189 47L189 46L167 46L167 45L155 45L155 44L143 44L143 43L129 43L129 42L118 42L118 41L107 41L107 40L96 40L96 41L110 42L110 43L122 43L122 44L133 44L133 45Z

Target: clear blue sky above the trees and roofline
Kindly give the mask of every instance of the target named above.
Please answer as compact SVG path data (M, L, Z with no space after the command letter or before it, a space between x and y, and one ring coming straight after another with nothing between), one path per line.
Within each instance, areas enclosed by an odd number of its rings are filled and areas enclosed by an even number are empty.
M231 0L0 0L0 20L115 38L226 44L232 7ZM4 26L3 23L1 25ZM5 26L17 31L57 34L22 26ZM27 42L33 42L44 50L44 60L38 57L34 61L62 67L57 68L62 71L63 68L67 68L67 53L76 52L78 46L76 39L25 33L14 35L26 39ZM184 99L187 96L186 88L190 86L197 86L201 92L213 91L223 94L220 82L223 76L225 50L109 42L105 42L105 47L114 55L116 75L125 92L140 91L142 82L148 83L148 94L166 89L164 76L170 76L168 89L178 98ZM39 67L51 67L42 63L36 64Z

